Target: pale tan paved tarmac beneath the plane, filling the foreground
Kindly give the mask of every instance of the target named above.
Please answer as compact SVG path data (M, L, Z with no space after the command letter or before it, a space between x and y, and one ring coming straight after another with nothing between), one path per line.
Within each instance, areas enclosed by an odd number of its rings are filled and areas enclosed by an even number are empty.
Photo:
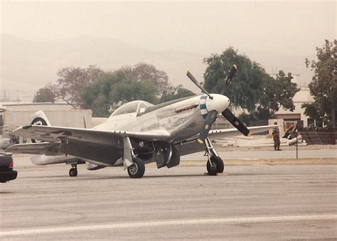
M23 168L0 186L0 239L336 239L337 166Z

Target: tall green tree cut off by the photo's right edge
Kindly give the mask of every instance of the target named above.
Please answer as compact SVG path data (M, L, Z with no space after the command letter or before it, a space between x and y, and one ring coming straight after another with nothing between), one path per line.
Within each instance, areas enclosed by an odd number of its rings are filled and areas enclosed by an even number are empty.
M314 77L309 84L311 95L314 97L316 109L329 122L330 127L336 128L337 103L337 40L328 40L316 48L317 61L306 59L306 67L314 70Z

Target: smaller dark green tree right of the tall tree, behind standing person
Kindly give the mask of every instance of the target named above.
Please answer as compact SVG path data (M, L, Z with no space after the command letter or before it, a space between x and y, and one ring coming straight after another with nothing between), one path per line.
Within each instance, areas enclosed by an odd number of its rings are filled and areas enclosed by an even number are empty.
M262 93L257 104L258 119L270 119L281 108L294 111L295 106L293 97L300 89L296 83L291 82L291 73L285 75L282 70L279 70L276 78L268 77L262 83Z

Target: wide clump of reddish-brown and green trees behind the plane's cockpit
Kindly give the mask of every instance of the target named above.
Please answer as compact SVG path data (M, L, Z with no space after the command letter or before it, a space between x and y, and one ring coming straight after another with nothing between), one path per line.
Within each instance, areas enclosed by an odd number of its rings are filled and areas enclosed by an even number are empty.
M95 117L109 113L132 100L159 102L162 92L169 88L169 77L154 65L138 63L114 72L105 73L100 68L63 68L58 71L58 82L53 92L76 108L92 109Z

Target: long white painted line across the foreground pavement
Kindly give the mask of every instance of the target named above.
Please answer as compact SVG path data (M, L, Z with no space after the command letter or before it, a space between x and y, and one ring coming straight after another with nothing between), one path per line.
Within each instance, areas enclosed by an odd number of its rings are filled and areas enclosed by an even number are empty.
M206 218L206 219L189 219L189 220L165 220L154 222L139 223L111 223L101 225L82 225L70 227L44 227L23 230L10 230L0 232L0 237L14 235L37 235L51 232L74 232L74 231L90 231L90 230L109 230L117 228L130 227L155 227L166 225L200 225L212 223L265 223L265 222L284 222L284 221L301 221L301 220L337 220L337 215L295 215L295 216L272 216L272 217L244 217L244 218Z

